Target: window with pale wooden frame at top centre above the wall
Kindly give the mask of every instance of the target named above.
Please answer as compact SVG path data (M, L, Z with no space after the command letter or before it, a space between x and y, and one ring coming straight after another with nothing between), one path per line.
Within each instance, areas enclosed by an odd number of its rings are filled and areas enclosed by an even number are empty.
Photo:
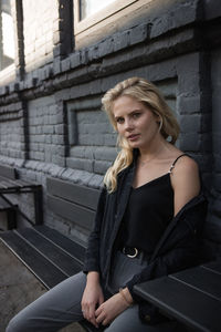
M74 0L75 46L92 44L103 37L116 32L128 20L134 20L137 10L146 7L150 1Z

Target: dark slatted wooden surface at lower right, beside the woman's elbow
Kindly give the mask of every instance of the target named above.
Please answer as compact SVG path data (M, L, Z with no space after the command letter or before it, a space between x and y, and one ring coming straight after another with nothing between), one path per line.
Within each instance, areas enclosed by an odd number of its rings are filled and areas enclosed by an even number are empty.
M221 330L221 258L144 282L135 291L190 331Z

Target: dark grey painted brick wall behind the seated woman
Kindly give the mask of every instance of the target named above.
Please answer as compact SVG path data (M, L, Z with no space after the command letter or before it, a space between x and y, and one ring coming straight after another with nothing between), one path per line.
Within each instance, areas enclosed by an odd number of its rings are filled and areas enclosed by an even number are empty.
M210 228L218 232L221 12L215 1L151 1L123 29L78 50L73 46L72 1L22 3L23 12L13 9L17 80L0 86L0 162L43 185L44 221L85 239L83 228L48 209L45 179L102 186L116 155L116 134L101 111L101 97L118 81L139 75L162 90L176 113L178 145L200 164L213 204ZM18 199L24 206L25 198Z

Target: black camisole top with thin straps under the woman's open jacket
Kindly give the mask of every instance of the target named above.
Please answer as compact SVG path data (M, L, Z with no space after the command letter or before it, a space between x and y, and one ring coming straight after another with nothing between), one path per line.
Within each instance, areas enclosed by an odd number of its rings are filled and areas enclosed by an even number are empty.
M120 247L136 247L146 253L154 251L173 217L173 189L170 173L178 158L167 174L140 187L131 188L119 230Z

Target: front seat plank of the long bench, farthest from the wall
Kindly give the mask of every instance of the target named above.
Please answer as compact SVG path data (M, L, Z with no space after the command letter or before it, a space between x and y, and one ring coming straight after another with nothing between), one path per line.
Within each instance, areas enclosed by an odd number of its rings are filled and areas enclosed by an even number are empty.
M1 232L0 238L48 289L67 278L13 231Z

